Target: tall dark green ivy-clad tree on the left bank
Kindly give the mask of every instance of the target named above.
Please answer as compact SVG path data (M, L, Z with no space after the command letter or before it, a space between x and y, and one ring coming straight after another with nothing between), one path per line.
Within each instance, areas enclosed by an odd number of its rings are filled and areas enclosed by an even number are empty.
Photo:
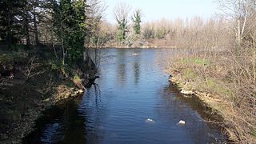
M61 0L54 3L54 30L65 48L69 63L83 58L86 2L84 0Z

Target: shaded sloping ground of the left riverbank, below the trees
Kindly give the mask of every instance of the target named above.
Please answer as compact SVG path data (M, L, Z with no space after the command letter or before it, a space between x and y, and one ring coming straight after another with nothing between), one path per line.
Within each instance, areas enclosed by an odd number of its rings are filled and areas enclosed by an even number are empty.
M90 79L82 82L81 73L94 75L93 70L85 69L92 66L60 66L49 47L1 54L0 143L21 142L43 110L84 92L82 83Z

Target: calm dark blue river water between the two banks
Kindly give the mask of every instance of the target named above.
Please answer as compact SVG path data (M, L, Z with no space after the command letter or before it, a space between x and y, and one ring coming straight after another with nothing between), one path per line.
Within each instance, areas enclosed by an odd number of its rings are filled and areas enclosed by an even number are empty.
M218 126L168 82L174 50L105 49L97 85L46 110L23 143L214 143ZM150 119L149 119L150 118ZM178 125L183 120L185 125Z

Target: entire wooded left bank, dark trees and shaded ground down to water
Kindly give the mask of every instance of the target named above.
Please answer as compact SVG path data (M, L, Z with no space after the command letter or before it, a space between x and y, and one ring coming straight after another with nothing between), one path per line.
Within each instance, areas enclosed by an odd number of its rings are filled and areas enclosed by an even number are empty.
M42 110L90 86L103 11L97 0L0 1L1 142L21 142Z

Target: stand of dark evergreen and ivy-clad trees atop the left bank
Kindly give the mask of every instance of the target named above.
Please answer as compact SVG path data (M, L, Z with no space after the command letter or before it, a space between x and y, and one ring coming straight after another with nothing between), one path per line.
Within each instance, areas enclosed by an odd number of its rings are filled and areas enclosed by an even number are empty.
M9 50L18 44L60 45L62 54L56 58L63 64L82 58L84 46L93 43L98 33L104 10L97 0L4 0L0 4L2 44Z

